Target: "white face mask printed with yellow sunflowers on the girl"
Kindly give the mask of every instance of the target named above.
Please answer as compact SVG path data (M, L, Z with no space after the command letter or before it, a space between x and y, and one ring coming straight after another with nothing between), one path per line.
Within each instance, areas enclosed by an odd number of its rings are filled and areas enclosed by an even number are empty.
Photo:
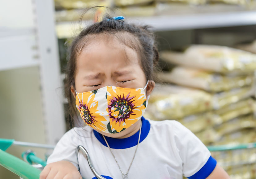
M88 126L111 134L121 132L144 114L147 84L137 89L105 86L89 92L76 92L76 108Z

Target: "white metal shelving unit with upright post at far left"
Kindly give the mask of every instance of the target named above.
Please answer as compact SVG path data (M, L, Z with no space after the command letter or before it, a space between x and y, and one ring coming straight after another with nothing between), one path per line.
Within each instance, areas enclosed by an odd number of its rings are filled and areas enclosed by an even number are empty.
M5 4L6 11L10 11L12 3ZM25 12L22 8L13 7L16 11L13 12L15 17L8 16L5 23L1 24L0 71L29 66L39 68L41 87L38 90L41 90L43 102L34 105L41 105L43 109L45 142L56 144L65 133L66 127L58 45L54 31L54 2L52 0L17 1L16 5L19 6L19 3L25 4L24 9L31 8L31 10ZM19 18L15 13L20 14Z

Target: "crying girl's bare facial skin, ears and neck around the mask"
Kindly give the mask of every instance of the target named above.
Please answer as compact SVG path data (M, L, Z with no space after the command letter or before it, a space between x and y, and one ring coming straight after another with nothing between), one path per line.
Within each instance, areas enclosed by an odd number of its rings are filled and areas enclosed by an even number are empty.
M126 45L120 45L115 39L97 39L82 49L76 60L75 88L71 87L74 97L77 92L88 92L105 86L124 88L143 88L146 76L139 64L137 52ZM154 88L154 82L147 85L147 96ZM137 125L135 125L138 123ZM123 137L139 127L136 122L117 134L105 134L109 137ZM138 131L138 130L137 130Z

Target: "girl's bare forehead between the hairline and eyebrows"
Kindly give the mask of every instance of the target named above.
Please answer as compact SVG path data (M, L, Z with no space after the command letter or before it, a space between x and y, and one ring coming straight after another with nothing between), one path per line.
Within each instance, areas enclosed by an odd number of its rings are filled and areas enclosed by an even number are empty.
M132 35L90 35L83 40L83 48L76 60L77 72L79 70L87 72L102 70L102 66L124 70L134 66L140 67L138 47L134 45L136 38Z

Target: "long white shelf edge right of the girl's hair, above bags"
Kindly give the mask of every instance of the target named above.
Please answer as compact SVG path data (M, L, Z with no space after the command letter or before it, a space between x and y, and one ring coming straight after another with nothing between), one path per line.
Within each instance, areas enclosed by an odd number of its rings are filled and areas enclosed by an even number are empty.
M256 24L256 11L155 16L134 18L131 21L149 24L156 31L243 26Z

